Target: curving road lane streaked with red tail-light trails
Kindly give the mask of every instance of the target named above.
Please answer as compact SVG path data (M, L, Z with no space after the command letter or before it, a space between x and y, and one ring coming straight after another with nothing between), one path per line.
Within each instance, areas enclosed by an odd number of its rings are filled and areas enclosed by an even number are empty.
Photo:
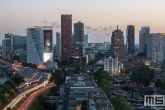
M30 105L30 103L33 101L33 99L42 91L53 87L54 85L46 85L45 87L37 90L36 92L34 92L33 94L31 94L25 101L24 103L18 108L18 110L26 110L28 108L28 106Z

